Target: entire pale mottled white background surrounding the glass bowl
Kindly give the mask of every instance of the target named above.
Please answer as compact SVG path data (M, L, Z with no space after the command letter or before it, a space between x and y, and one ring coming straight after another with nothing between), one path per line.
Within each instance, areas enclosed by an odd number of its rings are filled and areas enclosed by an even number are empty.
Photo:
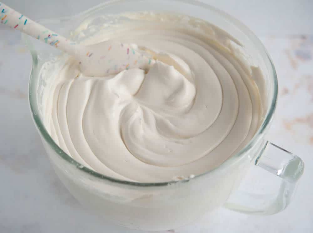
M3 0L34 19L78 13L101 2ZM313 1L203 2L243 21L269 50L280 85L269 139L299 155L305 173L292 204L279 214L249 216L221 208L172 232L313 232ZM137 232L95 218L60 183L29 113L30 54L18 32L0 24L0 35L0 232ZM254 171L265 179L260 184L270 182L262 172Z

